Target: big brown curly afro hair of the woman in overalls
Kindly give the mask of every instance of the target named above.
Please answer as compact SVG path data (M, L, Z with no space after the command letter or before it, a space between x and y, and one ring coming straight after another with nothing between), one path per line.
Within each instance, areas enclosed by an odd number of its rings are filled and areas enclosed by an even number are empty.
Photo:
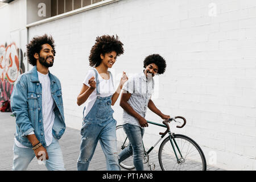
M117 52L117 56L123 54L123 43L120 42L118 36L102 35L97 36L96 43L90 50L89 65L91 67L98 67L101 64L101 53L105 56L105 53L112 51Z

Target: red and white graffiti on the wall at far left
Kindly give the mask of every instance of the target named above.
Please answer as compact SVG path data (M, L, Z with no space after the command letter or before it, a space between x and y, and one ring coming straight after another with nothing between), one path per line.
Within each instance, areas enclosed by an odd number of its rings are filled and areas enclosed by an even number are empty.
M0 102L10 100L14 82L25 71L22 49L15 43L0 46Z

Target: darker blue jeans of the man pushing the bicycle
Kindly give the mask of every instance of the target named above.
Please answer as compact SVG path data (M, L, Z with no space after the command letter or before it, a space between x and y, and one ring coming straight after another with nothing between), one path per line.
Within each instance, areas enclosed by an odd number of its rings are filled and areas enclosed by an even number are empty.
M144 148L142 138L144 135L144 129L139 126L131 125L126 123L123 125L123 130L130 141L129 145L122 150L119 154L118 162L121 163L123 160L129 158L133 155L133 163L137 171L143 171L143 155L144 155Z

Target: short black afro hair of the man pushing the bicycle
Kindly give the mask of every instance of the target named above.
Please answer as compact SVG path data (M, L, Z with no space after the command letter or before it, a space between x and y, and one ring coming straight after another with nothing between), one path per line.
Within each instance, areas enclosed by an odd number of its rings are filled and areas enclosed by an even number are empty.
M144 59L144 68L147 67L147 65L151 64L151 63L155 63L158 66L158 74L163 74L166 71L166 60L163 59L162 56L160 56L159 54L152 54L147 56Z

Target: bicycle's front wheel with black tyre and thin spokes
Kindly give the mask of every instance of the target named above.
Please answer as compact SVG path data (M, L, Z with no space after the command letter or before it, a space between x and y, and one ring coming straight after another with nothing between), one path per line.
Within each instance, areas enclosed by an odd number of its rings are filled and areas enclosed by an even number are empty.
M175 148L175 151L174 151ZM163 140L158 152L163 171L205 171L207 163L199 145L185 135L174 134Z

